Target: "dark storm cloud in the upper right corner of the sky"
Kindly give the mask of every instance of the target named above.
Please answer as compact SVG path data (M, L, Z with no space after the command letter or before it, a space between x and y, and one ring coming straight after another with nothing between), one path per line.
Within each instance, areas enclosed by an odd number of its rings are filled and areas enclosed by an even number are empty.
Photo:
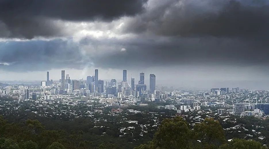
M125 32L164 36L268 39L267 0L159 1L143 15L130 19Z

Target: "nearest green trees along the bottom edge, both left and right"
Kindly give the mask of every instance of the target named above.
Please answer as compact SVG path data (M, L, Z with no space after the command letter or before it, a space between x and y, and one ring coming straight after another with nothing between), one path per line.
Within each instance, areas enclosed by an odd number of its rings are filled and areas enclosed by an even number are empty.
M0 116L0 148L3 149L116 149L120 142L115 138L103 138L96 142L83 140L81 131L47 130L38 120L27 119L21 123L9 123ZM110 142L111 141L111 142ZM113 143L114 142L114 143ZM125 146L125 148L130 148ZM227 141L222 126L213 118L197 123L193 128L182 119L164 119L153 139L135 149L267 149L255 140L234 138Z

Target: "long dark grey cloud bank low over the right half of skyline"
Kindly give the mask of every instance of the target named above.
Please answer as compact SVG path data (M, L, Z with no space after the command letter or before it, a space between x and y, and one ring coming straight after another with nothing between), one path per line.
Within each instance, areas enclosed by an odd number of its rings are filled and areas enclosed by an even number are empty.
M134 39L87 38L81 43L94 46L100 55L91 54L97 67L148 68L176 65L255 66L269 63L269 51L264 45L229 38L140 37ZM99 47L98 45L102 45ZM113 51L107 50L114 49ZM126 51L121 51L125 48Z

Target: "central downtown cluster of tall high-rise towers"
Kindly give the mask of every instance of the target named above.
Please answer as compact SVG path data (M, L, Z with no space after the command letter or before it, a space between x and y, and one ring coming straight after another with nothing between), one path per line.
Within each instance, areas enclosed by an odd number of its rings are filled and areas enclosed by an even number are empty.
M123 70L122 81L116 79L103 81L98 78L98 69L95 69L93 76L87 76L86 80L71 80L65 70L62 70L59 82L49 81L49 72L47 72L47 81L41 82L42 91L50 95L81 95L93 97L141 97L144 93L150 94L151 98L160 99L160 91L155 91L156 77L154 74L149 75L150 85L147 90L145 85L145 73L139 74L139 81L135 84L134 78L131 78L131 84L127 83L127 70ZM49 91L49 92L48 92ZM152 95L154 94L154 95Z

